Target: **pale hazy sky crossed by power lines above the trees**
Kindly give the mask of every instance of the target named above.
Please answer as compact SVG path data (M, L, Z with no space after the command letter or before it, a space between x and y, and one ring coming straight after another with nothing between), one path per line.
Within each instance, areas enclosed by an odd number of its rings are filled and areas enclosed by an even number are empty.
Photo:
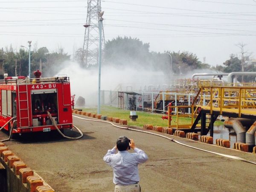
M137 37L150 51L188 51L212 66L240 57L236 44L255 57L256 0L102 0L105 40ZM0 48L32 41L32 50L82 47L87 0L0 0Z

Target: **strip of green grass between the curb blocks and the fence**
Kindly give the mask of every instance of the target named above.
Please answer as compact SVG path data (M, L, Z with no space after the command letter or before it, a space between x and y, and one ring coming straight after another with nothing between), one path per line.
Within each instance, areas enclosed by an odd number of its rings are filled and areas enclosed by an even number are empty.
M84 112L97 113L97 108L84 108ZM162 120L162 114L150 113L150 112L139 112L137 111L137 121L130 121L130 111L119 109L113 106L101 106L101 115L107 115L109 117L118 117L120 119L128 120L128 126L143 126L144 124L152 124L157 126L168 126L168 121ZM180 117L179 124L190 124L190 117ZM172 125L176 124L176 117L172 117ZM214 125L223 125L221 121L215 121Z

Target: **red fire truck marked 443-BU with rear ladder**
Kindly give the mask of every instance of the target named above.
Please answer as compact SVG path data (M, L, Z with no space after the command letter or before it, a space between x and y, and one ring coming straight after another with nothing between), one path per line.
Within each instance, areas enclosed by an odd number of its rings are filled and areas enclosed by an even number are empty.
M69 77L40 75L0 80L0 127L9 133L55 130L47 111L60 130L73 127Z

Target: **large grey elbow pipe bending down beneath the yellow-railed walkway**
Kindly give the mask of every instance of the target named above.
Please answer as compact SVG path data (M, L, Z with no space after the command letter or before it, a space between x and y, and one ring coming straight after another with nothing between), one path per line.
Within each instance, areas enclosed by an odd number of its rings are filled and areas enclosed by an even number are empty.
M245 118L230 118L225 120L224 126L227 128L233 128L236 132L237 142L245 143L246 127L250 127L253 124L251 119Z

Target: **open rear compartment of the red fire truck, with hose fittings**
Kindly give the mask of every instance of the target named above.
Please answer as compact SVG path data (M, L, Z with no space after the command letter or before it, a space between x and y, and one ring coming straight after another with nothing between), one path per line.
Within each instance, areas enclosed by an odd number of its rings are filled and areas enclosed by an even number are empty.
M32 126L52 125L47 111L52 114L52 118L58 124L58 97L56 89L33 90L31 94L32 104Z

